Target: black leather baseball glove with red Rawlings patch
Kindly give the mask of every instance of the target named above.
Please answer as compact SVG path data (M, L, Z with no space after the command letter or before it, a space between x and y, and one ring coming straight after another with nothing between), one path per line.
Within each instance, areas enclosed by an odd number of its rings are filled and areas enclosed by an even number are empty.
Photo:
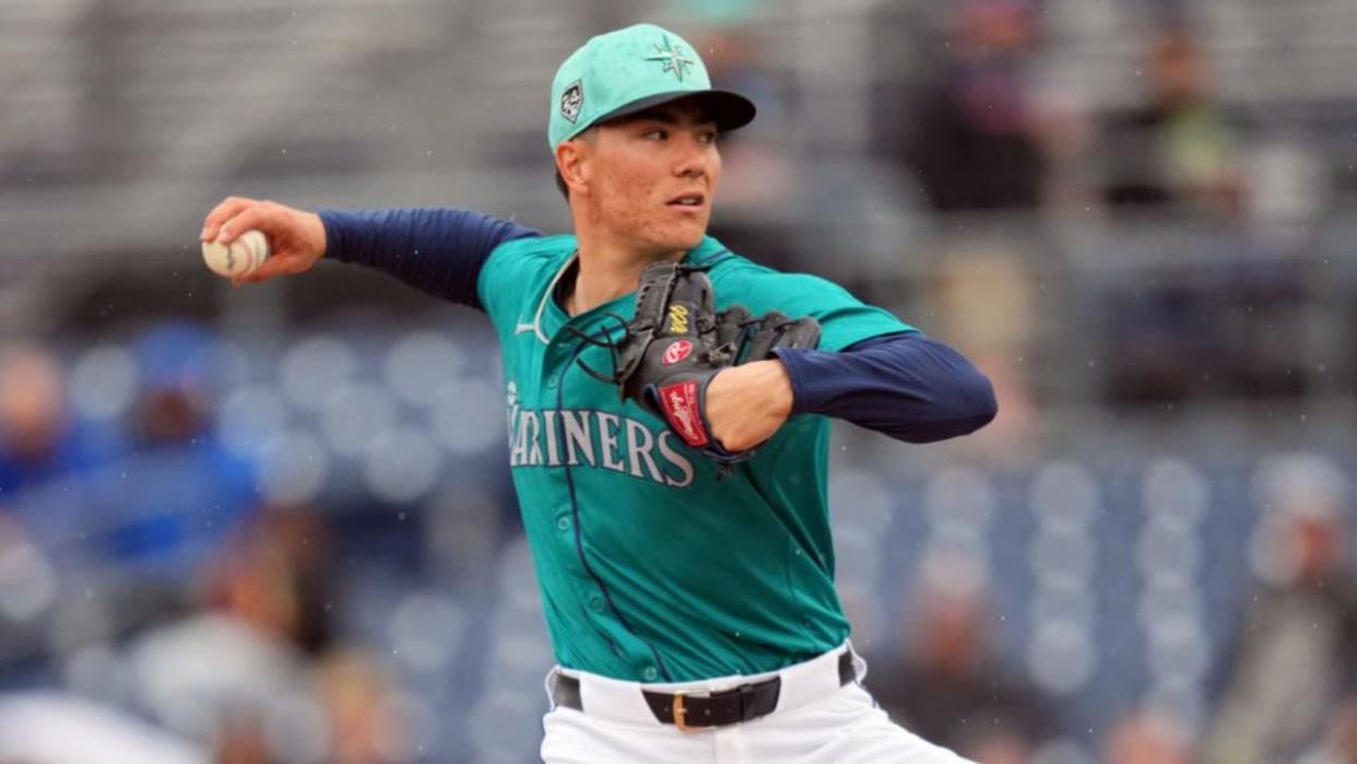
M711 379L729 366L772 358L776 347L818 342L816 319L792 320L778 311L754 318L742 305L718 313L703 267L658 262L641 274L636 313L616 345L616 373L607 381L668 422L689 446L730 464L754 449L730 452L712 437L706 408Z

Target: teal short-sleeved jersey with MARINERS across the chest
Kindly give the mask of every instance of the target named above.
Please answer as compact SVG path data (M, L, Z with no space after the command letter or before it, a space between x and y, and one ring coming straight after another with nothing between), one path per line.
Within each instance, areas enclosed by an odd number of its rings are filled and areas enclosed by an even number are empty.
M829 532L829 422L791 418L733 476L581 362L608 373L626 294L570 318L555 286L574 236L506 242L480 270L509 406L509 461L556 661L613 679L692 681L776 670L843 643ZM911 331L843 288L784 274L707 237L716 307L814 316L821 350Z

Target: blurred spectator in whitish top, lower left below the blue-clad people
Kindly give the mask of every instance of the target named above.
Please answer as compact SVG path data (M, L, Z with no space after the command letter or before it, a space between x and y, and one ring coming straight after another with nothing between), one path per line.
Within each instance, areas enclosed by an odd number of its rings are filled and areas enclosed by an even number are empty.
M334 646L330 555L309 510L243 528L206 571L209 608L134 646L142 707L228 764L411 760L379 666Z

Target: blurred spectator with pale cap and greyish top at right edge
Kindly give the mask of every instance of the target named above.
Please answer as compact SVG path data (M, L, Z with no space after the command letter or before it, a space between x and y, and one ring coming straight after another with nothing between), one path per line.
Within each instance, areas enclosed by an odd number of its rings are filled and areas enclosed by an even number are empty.
M1210 764L1293 761L1357 684L1357 582L1345 570L1348 480L1329 461L1267 464L1261 584L1235 631Z

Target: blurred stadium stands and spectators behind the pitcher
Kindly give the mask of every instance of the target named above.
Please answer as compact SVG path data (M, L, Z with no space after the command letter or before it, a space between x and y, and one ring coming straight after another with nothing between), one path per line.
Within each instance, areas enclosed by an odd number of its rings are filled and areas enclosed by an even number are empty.
M565 229L547 84L642 19L759 102L715 235L999 388L955 444L837 430L882 703L984 764L1357 761L1342 0L0 1L0 761L535 760L486 323L195 235Z

